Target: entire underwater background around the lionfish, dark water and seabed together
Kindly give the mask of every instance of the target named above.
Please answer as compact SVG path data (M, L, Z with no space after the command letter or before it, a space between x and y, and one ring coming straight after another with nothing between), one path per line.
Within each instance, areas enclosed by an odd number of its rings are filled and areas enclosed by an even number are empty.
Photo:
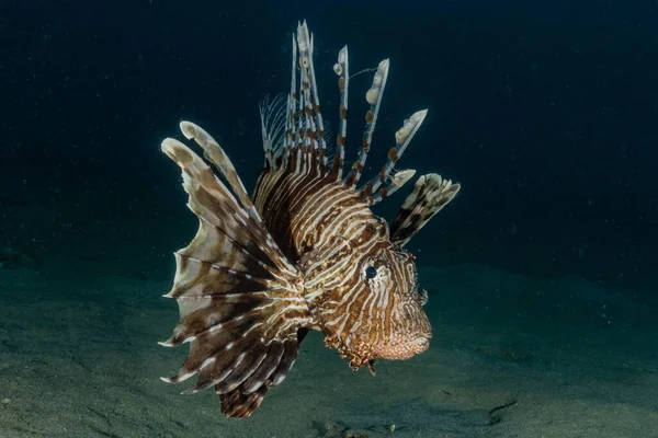
M366 176L427 107L399 168L462 184L409 245L434 337L372 378L311 334L225 419L158 379L197 227L160 141L193 120L251 191L304 19L334 130L338 50L390 58ZM656 1L0 0L0 437L658 437Z

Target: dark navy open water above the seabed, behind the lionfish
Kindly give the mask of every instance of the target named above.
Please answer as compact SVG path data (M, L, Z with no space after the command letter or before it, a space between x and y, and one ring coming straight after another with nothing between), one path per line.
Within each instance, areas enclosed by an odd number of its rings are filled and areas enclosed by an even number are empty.
M193 120L251 191L258 104L287 91L290 38L304 19L334 129L338 50L349 45L352 73L392 60L366 176L404 118L429 108L399 168L462 191L410 245L419 265L582 277L656 315L655 0L0 0L0 270L75 275L81 263L169 281L171 252L197 224L160 141ZM350 82L348 160L371 80ZM393 219L404 197L376 212ZM594 313L606 320L605 306ZM460 422L470 424L455 430Z

